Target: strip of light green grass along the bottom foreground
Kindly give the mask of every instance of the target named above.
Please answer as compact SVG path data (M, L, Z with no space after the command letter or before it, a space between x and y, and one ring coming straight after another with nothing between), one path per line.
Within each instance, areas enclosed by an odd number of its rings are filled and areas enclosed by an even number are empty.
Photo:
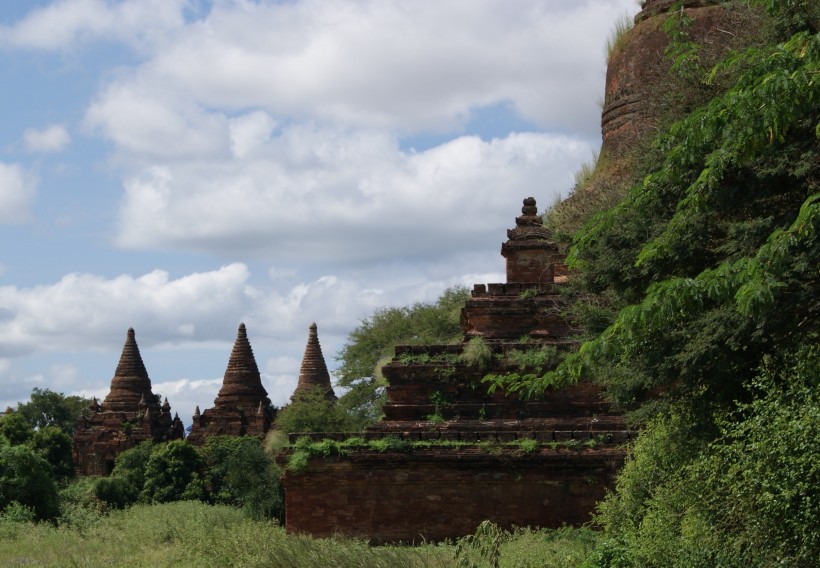
M475 540L481 544L481 540ZM498 566L579 566L597 540L589 529L503 532ZM470 541L473 542L473 541ZM493 565L486 548L423 544L369 546L349 538L286 535L275 523L238 509L197 501L137 505L109 515L87 514L52 526L0 518L0 565L72 567L242 566L283 568Z

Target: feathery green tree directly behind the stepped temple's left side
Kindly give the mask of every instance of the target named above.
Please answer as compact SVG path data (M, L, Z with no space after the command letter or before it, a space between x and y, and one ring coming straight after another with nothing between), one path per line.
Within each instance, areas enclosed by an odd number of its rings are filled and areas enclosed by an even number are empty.
M435 303L381 308L348 335L336 360L339 386L350 389L342 407L368 424L381 415L384 379L381 366L390 361L396 345L457 343L461 340L461 308L466 288L449 288Z

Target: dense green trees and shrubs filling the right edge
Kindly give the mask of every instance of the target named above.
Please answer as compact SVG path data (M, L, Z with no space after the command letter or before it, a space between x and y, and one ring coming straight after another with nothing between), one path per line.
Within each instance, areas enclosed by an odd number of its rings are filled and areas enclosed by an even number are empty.
M600 508L595 565L820 555L820 4L752 3L769 11L769 39L714 66L713 98L574 236L579 288L613 308L596 314L606 327L512 385L590 377L644 425Z

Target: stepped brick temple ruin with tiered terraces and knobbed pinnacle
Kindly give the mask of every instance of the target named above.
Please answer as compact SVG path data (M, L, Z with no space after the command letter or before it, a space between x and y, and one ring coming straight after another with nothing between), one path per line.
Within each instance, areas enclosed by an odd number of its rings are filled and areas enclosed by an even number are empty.
M347 448L346 455L312 457L307 469L286 471L289 532L412 542L463 536L485 519L505 527L590 520L623 463L630 433L590 383L534 401L488 393L486 375L542 374L576 346L559 294L563 258L535 199L524 200L501 254L507 282L475 286L462 310L464 341L399 346L382 369L384 418L364 438L392 440L401 449ZM483 361L465 357L476 341ZM524 360L533 363L522 370Z

